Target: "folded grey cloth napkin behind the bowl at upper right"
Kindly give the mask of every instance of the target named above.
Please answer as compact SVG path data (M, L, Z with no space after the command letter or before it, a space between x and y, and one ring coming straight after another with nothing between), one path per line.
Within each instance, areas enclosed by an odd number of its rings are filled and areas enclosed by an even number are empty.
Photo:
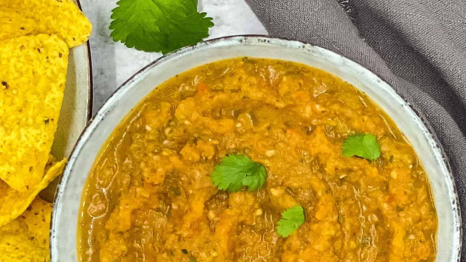
M246 0L272 36L376 73L411 103L450 159L466 233L466 5L457 0ZM463 237L462 262L466 262Z

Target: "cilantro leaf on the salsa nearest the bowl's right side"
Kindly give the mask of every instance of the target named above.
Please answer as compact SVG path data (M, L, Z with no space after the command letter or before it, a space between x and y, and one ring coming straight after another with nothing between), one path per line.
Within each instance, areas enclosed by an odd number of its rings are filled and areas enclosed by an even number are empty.
M372 134L352 135L343 142L343 156L375 160L380 157L380 144Z

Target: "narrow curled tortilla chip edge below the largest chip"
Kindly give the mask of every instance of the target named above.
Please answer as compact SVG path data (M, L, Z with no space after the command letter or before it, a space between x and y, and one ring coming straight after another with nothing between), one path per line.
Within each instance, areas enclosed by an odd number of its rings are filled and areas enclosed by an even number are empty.
M0 180L0 192L2 192L2 195L0 195L0 227L7 225L21 215L37 194L63 172L65 164L66 159L63 159L61 162L52 165L41 183L26 192L16 191ZM3 262L1 259L0 261Z

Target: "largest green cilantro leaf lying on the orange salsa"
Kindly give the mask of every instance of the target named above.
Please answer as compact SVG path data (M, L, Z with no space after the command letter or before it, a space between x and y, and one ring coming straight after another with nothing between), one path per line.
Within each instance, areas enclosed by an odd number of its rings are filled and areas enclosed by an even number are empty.
M215 166L211 179L220 190L238 192L247 186L248 191L253 191L264 186L267 171L245 155L229 155Z

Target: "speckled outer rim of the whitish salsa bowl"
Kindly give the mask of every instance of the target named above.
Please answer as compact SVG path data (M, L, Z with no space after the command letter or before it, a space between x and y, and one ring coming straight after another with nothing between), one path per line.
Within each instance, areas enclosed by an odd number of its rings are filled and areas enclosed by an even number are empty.
M79 4L79 0L76 0L76 1ZM56 205L56 204L61 203L62 195L64 193L63 192L63 188L64 188L63 184L66 184L66 182L68 181L68 178L70 176L70 171L71 171L70 166L71 166L72 163L75 162L76 155L80 152L80 149L81 149L80 145L84 144L85 142L88 141L89 136L92 134L92 132L94 131L96 126L103 119L103 117L105 117L107 112L109 110L111 110L111 105L113 104L113 100L117 99L116 98L117 94L119 92L121 92L122 90L124 90L130 83L137 80L138 77L141 76L145 71L147 71L148 69L151 69L153 66L157 65L160 62L163 62L165 60L170 60L172 57L183 55L184 53L191 52L191 51L193 51L193 50L195 50L197 48L200 48L200 47L205 47L205 46L209 46L211 44L217 43L217 42L228 41L228 40L232 40L232 39L233 40L237 39L239 42L242 42L243 40L249 40L249 39L255 39L257 41L263 41L263 42L286 41L286 42L294 42L296 44L300 44L300 45L304 45L304 46L311 46L311 47L314 47L314 48L322 48L321 46L318 46L318 45L315 45L315 44L312 44L312 43L309 43L309 42L306 42L306 41L299 41L299 40L289 39L289 38L284 38L284 37L273 37L273 36L261 35L261 34L229 35L229 36L213 38L213 39L209 39L209 40L206 40L206 41L202 41L202 42L199 42L198 44L196 44L194 46L187 46L187 47L179 48L178 50L172 51L172 52L170 52L168 54L165 54L165 55L159 57L158 59L156 59L156 60L150 62L149 64L147 64L146 66L144 66L142 69L138 70L133 76L131 76L130 78L128 78L128 80L123 82L111 94L111 96L109 98L107 98L105 103L103 103L103 106L99 110L97 110L96 114L89 120L88 124L86 125L85 129L82 131L81 135L79 136L79 138L78 138L78 140L77 140L77 142L76 142L76 144L75 144L75 146L74 146L74 148L73 148L73 150L72 150L72 152L70 154L69 161L68 161L67 165L65 166L65 169L63 171L62 176L60 176L58 186L57 186L57 191L55 193L54 205L53 205L53 208L52 208L52 216L51 216L51 220L50 220L49 248L50 248L50 258L51 258L52 262L59 261L59 259L55 259L54 255L53 255L53 253L54 253L53 251L55 250L55 246L53 245L53 243L54 243L53 238L54 238L54 234L55 234L54 224L55 224L55 220L57 219L57 216L58 216L58 213L57 213L58 205ZM447 169L446 170L447 174L445 173L444 175L447 177L448 182L451 183L450 186L452 188L452 193L453 193L453 198L454 198L454 203L452 203L452 204L455 207L455 208L453 208L452 213L454 215L454 218L456 218L458 223L459 223L458 228L457 228L458 229L457 231L459 232L459 236L458 236L458 242L459 243L458 243L458 250L457 250L458 252L457 253L452 252L452 254L454 254L457 257L457 262L460 262L460 260L461 260L461 251L462 251L462 242L463 242L462 241L462 239L463 239L463 234L462 234L463 227L462 227L461 209L460 209L460 206L459 206L458 190L457 190L457 187L456 187L456 179L453 176L452 168L451 168L448 156L445 153L445 149L444 149L443 145L439 142L439 138L437 137L436 133L433 131L433 128L432 128L431 124L429 124L429 122L427 121L427 119L425 118L425 116L421 112L416 110L412 106L411 103L407 102L407 99L403 95L400 95L397 92L397 90L394 89L391 86L391 84L389 84L387 81L385 81L384 78L382 78L378 74L372 72L371 70L367 69L365 66L361 65L360 63L355 62L354 60L348 58L347 56L340 54L339 52L330 50L328 48L322 48L322 49L324 49L327 52L331 52L331 53L334 53L336 55L339 55L339 56L343 57L343 59L348 60L350 62L353 62L353 63L359 65L368 74L370 74L372 76L375 76L377 79L379 79L381 81L381 83L383 83L386 86L390 87L391 90L409 106L409 108L413 111L415 116L418 117L420 122L424 125L426 131L428 132L428 134L432 138L433 142L435 143L435 147L438 149L438 151L439 151L439 153L440 153L440 155L442 157L443 163L445 164L445 167ZM89 42L88 42L88 51L90 51ZM89 58L90 58L90 52L89 52ZM89 61L89 65L90 65L90 61Z

